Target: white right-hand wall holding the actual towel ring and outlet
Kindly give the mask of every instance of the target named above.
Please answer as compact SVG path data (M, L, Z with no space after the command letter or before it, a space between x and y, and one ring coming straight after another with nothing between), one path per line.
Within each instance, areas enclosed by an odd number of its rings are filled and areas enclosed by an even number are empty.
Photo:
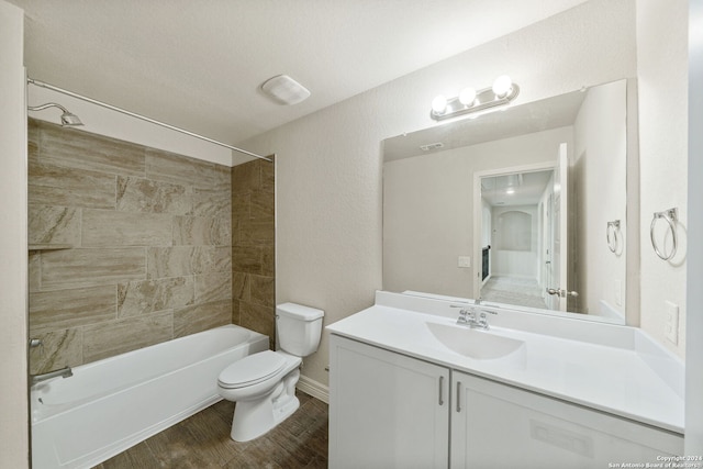
M683 357L688 177L688 4L637 1L641 305L640 326ZM654 212L679 210L679 252L665 261L649 242ZM665 337L665 301L679 305L679 343Z

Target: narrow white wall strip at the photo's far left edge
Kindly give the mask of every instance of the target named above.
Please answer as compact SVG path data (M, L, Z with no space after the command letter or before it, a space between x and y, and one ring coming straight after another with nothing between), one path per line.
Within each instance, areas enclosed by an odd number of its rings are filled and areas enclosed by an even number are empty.
M24 13L0 0L0 467L29 467Z

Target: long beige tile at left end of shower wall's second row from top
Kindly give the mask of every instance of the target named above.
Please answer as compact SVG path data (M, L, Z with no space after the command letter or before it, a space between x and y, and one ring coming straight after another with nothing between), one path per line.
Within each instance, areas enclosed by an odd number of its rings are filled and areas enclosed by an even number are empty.
M116 178L30 161L27 189L30 204L114 209Z

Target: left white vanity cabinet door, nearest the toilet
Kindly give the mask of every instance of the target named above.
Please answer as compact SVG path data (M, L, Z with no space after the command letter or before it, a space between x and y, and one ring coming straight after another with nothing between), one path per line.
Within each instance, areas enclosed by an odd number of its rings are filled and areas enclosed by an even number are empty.
M449 370L333 335L330 467L447 468Z

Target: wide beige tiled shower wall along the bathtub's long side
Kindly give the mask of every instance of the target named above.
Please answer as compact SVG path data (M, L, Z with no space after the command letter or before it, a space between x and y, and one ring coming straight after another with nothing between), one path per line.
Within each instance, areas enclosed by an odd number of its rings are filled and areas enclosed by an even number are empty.
M44 343L31 372L232 322L231 168L34 120L29 149L30 337ZM237 224L245 245L261 190ZM272 304L259 277L237 301L246 322Z

